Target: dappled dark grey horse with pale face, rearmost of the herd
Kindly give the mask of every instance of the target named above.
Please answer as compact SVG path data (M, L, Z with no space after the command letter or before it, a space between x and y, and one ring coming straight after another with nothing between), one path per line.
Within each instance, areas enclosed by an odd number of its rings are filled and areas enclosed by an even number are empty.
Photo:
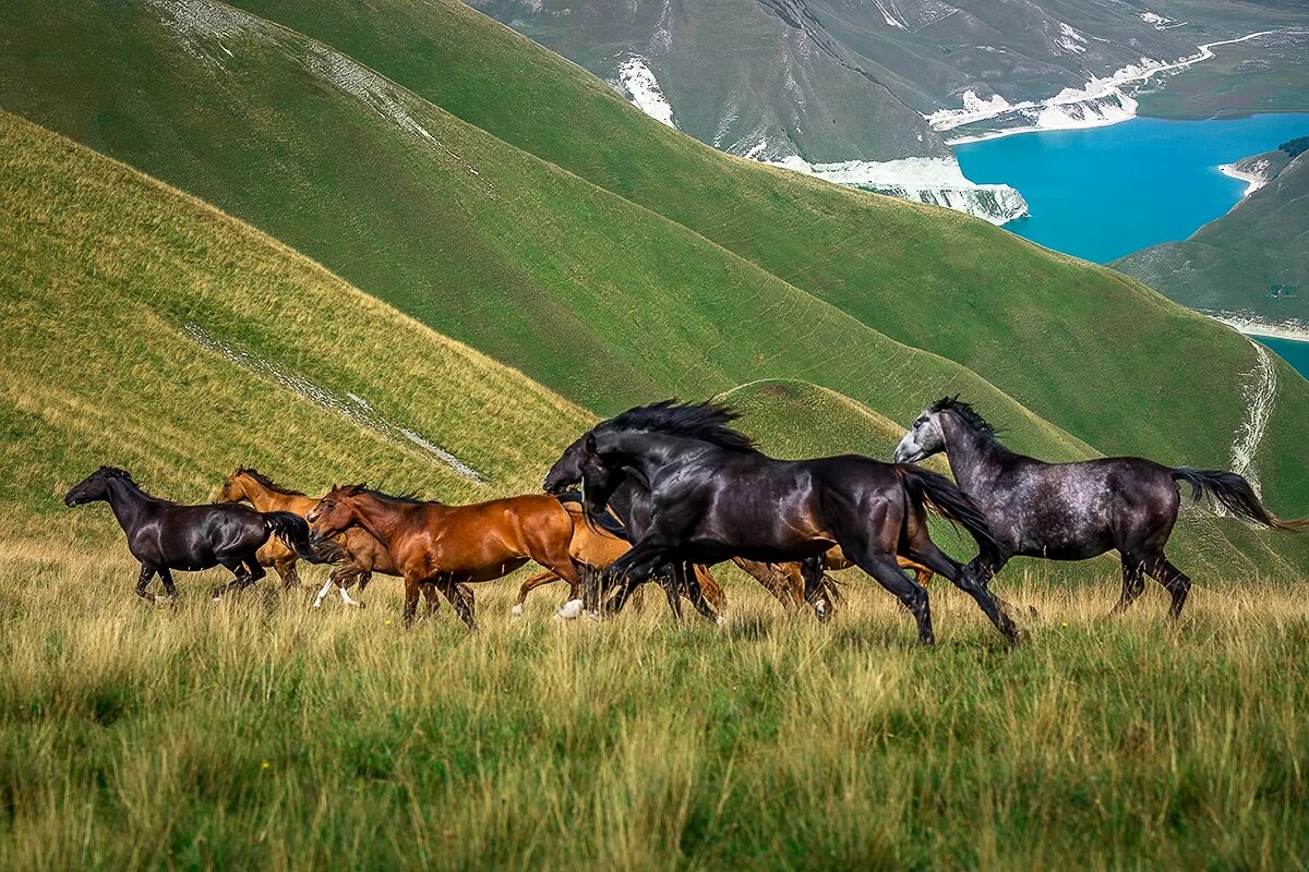
M1169 616L1182 613L1191 579L1164 554L1181 505L1178 481L1191 485L1192 497L1207 493L1233 515L1263 527L1309 527L1309 520L1270 514L1234 472L1172 469L1143 458L1045 463L1014 454L958 397L923 409L897 446L895 460L918 461L941 451L959 488L986 512L996 540L982 549L970 571L988 579L1014 556L1086 560L1118 549L1123 596L1113 614L1140 596L1143 573L1172 594Z

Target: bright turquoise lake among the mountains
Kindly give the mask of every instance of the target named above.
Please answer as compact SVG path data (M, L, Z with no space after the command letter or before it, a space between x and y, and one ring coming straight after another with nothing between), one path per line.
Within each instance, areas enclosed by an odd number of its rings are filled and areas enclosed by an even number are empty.
M1136 118L1081 131L1020 133L956 146L974 182L1012 184L1031 217L1005 230L1077 258L1109 263L1186 239L1236 205L1245 183L1220 163L1309 135L1309 114L1233 120ZM1309 343L1257 337L1309 378Z

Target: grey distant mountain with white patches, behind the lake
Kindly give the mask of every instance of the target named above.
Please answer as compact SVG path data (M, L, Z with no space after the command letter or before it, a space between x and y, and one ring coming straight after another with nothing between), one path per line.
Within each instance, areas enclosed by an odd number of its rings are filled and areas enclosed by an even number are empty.
M1309 24L1203 0L469 1L715 148L995 224L1026 203L946 140L1123 120L1207 43Z

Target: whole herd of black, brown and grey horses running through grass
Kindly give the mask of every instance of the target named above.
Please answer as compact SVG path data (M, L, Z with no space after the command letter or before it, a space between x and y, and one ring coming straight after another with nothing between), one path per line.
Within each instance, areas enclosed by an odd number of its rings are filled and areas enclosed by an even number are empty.
M254 469L228 476L211 505L186 506L147 494L131 475L101 467L65 505L109 502L141 570L136 594L171 603L173 570L224 566L233 579L213 597L249 587L272 566L298 586L296 562L334 563L314 607L332 591L348 605L373 573L404 580L404 624L420 595L440 594L475 629L469 584L535 561L513 613L535 587L571 587L560 617L619 612L640 584L656 580L681 616L687 599L721 621L721 588L708 566L732 560L787 611L804 605L826 621L836 605L829 569L857 566L894 594L933 642L927 583L944 575L967 592L1011 642L1026 633L991 579L1014 556L1085 560L1117 550L1126 609L1149 575L1182 612L1191 579L1164 549L1177 522L1178 482L1208 494L1254 524L1301 531L1282 520L1233 472L1169 468L1141 458L1045 463L1005 448L967 403L939 400L918 416L894 463L860 455L778 460L730 425L732 409L674 400L637 407L573 442L550 469L545 494L448 506L387 495L367 485L334 486L322 498L280 488ZM954 482L919 465L945 454ZM577 488L581 488L580 492ZM242 505L242 503L250 503ZM959 563L928 535L928 511L977 543ZM914 578L906 574L914 571ZM148 592L158 575L165 597ZM607 597L607 599L606 599Z

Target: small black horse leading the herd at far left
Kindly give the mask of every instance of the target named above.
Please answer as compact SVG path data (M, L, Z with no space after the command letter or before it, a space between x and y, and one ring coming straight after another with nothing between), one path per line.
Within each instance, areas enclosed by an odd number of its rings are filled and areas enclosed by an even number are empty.
M154 575L164 582L168 601L177 597L171 570L194 571L225 566L236 578L213 588L213 599L228 590L245 590L264 577L255 552L276 535L288 548L312 563L339 560L330 543L314 543L309 524L289 511L259 512L250 506L219 503L179 506L152 497L124 469L101 467L73 486L64 505L105 501L118 526L127 533L127 549L141 562L136 595L158 601L145 587Z

